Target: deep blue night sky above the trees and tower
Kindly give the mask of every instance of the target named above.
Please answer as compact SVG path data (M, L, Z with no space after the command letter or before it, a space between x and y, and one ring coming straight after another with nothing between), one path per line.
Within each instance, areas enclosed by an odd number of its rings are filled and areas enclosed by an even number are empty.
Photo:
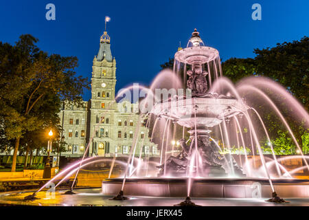
M47 3L56 5L56 21L45 19ZM262 21L251 19L253 3L262 5ZM149 85L194 28L224 61L246 58L254 48L308 36L308 10L308 0L1 1L0 41L14 43L21 34L32 34L41 50L77 56L76 72L91 78L107 15L118 90L132 83ZM89 98L85 91L84 99Z

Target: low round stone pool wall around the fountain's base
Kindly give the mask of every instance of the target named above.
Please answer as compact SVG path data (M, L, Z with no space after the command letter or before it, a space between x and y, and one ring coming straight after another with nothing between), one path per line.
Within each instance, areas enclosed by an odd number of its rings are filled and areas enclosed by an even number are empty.
M104 179L103 195L116 195L122 188L122 178ZM309 179L273 179L276 192L286 198L308 198ZM194 179L191 197L203 198L259 198L270 197L268 179ZM187 178L128 178L124 195L144 197L186 197Z

